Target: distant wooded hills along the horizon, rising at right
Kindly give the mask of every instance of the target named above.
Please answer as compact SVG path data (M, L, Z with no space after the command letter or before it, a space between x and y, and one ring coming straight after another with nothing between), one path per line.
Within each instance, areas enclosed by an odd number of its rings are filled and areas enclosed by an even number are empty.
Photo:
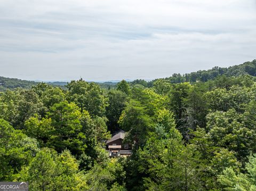
M164 78L171 83L180 83L180 82L196 82L196 81L208 81L218 76L225 75L227 77L231 76L240 76L240 75L250 75L256 77L256 60L251 62L245 62L243 64L234 65L228 68L220 68L220 67L213 67L210 70L199 70L197 72L191 72L186 74L177 74L174 73L169 78ZM156 80L156 79L155 79ZM152 86L155 80L126 80L129 81L131 84L141 84L143 86ZM114 88L116 84L121 80L110 80L110 81L96 81L100 87L102 88ZM20 80L16 78L5 78L0 77L0 91L6 89L14 89L14 88L31 88L34 85L37 85L39 80L35 81L28 81L28 80ZM66 88L68 82L66 81L43 81L49 85L59 86L61 88ZM90 81L89 81L90 82ZM92 82L92 81L91 81Z

